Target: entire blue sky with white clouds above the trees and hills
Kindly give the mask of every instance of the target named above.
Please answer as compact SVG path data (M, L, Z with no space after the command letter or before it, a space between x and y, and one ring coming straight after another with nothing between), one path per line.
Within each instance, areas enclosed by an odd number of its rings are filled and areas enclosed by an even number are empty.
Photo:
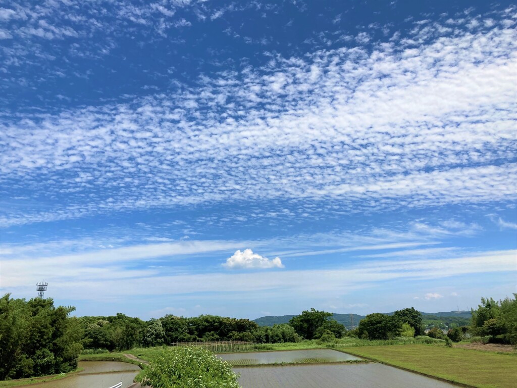
M77 316L517 292L511 1L0 1L0 293Z

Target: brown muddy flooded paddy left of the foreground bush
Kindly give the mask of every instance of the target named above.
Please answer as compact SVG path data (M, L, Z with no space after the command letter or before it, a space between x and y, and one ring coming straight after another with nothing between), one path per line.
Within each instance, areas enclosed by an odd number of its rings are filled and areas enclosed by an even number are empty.
M114 361L83 361L82 372L60 380L27 385L31 388L109 388L122 380L122 388L127 388L140 368L133 364Z

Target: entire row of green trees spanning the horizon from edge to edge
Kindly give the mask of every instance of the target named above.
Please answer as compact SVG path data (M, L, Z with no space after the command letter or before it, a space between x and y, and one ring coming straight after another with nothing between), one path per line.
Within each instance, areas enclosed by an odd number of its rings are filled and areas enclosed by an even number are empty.
M466 331L486 342L517 345L517 294L514 299L482 298L472 310L469 326L455 327L446 335L436 327L428 335L459 341ZM54 306L52 299L0 299L0 380L68 372L77 367L81 351L123 351L135 347L174 345L177 342L250 341L264 344L317 340L336 341L344 336L393 339L425 334L422 315L413 307L392 315L374 313L357 329L345 326L326 311L314 308L293 316L288 323L258 326L249 319L214 315L165 315L143 321L116 314L109 317L70 317L74 307Z

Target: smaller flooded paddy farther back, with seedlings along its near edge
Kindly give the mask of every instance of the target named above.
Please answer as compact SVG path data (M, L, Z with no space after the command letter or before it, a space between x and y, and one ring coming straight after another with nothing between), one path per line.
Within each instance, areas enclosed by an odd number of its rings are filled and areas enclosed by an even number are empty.
M262 365L281 363L331 363L361 360L351 354L332 349L285 350L275 352L248 352L218 354L224 361L232 365Z

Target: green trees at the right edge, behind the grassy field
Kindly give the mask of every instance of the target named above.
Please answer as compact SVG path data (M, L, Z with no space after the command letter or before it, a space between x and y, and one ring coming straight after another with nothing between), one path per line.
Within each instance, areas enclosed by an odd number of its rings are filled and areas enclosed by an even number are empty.
M501 301L481 298L481 304L472 310L470 331L488 336L491 342L517 345L517 294L513 294L513 299L507 297Z

